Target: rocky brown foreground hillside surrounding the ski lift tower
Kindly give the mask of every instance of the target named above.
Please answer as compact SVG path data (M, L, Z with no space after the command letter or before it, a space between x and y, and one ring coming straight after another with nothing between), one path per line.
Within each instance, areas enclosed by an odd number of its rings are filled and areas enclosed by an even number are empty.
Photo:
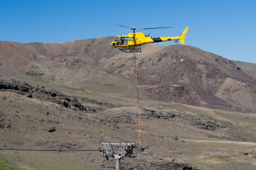
M136 103L113 105L95 112L57 90L0 77L0 148L86 150L102 147L107 141L138 145ZM122 169L253 168L255 114L155 101L143 101L141 114L151 155L145 150L136 152L135 158L122 158ZM106 160L98 154L0 150L1 157L22 169L114 168L113 158Z

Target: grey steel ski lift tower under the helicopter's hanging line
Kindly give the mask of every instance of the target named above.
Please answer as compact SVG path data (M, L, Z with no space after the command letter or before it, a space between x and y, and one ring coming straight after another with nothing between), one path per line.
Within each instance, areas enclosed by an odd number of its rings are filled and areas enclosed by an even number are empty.
M125 155L125 146L130 144L131 150L130 150L130 157L136 157L137 154L134 154L132 152L133 147L135 146L135 143L102 143L104 145L104 149L99 148L100 157L106 157L108 160L108 157L114 157L115 158L115 170L120 170L120 160L123 157L126 157ZM144 149L150 149L149 146L143 146L143 147L134 147L135 149L139 151L144 151Z

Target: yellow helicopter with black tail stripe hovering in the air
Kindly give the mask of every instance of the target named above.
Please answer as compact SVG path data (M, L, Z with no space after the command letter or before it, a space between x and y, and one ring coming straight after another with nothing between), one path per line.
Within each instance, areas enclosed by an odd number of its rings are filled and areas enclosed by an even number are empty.
M119 25L122 27L129 28L127 26ZM149 34L144 34L142 32L135 32L135 30L141 30L141 29L159 29L159 28L172 28L172 27L157 27L157 28L129 28L128 30L123 31L129 31L130 29L133 31L133 33L129 33L128 35L122 35L118 36L117 39L115 39L111 45L114 48L117 48L123 52L141 52L141 47L144 44L149 43L155 43L155 42L163 42L163 41L172 41L174 40L176 43L178 40L181 41L182 44L184 44L185 35L189 29L189 27L186 27L185 30L182 32L180 36L176 37L149 37ZM139 46L139 47L138 47Z

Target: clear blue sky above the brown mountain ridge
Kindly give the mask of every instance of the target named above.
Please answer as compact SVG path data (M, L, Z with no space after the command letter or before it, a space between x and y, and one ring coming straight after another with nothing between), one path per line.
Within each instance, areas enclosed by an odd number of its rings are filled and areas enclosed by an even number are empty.
M111 32L123 30L116 24L173 26L143 32L177 36L189 26L187 45L256 63L255 9L253 0L0 0L0 40L55 43L129 33Z

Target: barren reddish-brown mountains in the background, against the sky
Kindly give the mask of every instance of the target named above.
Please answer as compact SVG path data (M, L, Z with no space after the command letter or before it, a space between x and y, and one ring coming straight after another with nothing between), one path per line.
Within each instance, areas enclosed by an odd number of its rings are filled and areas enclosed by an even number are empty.
M0 72L94 94L135 97L133 54L114 37L64 43L0 42ZM143 99L244 112L256 111L256 81L239 65L188 45L142 46L137 53Z

